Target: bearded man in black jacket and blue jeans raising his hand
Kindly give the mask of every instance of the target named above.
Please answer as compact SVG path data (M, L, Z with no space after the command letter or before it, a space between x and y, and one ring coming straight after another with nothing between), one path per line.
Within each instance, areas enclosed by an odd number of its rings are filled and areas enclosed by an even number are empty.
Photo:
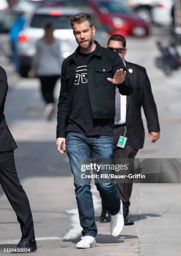
M78 160L113 157L115 87L122 95L132 85L120 57L93 40L95 27L87 13L71 16L78 48L64 60L57 114L57 148L69 156L79 210L82 240L77 248L95 246L97 226L90 181L82 182ZM61 145L63 144L63 148ZM124 226L122 202L114 183L96 183L111 214L110 232L119 236Z

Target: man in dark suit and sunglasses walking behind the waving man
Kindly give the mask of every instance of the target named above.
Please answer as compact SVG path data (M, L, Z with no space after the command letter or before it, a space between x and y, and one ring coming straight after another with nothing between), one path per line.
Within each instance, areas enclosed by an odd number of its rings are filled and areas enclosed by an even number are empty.
M135 158L138 150L143 148L145 139L141 107L143 107L148 126L147 138L149 139L152 137L152 143L155 143L160 138L160 126L156 104L146 69L137 64L125 61L125 55L127 53L125 38L121 35L111 36L109 38L107 48L116 51L120 55L129 72L129 77L133 84L133 94L129 97L119 95L116 91L114 158L133 159ZM124 133L127 137L127 142L125 144L125 148L121 148L117 146L117 143L120 136ZM123 203L125 225L133 225L134 222L128 218L133 183L117 183L116 187ZM102 202L100 222L106 222L109 220L109 212L107 212L107 209Z

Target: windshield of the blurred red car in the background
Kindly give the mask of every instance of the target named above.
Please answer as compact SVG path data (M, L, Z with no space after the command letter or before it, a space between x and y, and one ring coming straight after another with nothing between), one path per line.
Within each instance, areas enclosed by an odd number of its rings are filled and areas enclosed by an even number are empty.
M101 8L102 12L116 12L116 13L131 13L133 10L127 5L127 3L122 1L95 1L97 5Z

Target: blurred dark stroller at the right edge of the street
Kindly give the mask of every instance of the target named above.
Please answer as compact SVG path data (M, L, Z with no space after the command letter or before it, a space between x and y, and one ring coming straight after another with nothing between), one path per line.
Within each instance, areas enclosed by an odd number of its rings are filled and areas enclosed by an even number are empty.
M177 70L181 66L181 57L174 43L164 47L161 42L157 42L157 46L161 56L156 58L156 66L163 69L163 72L168 76L173 70Z

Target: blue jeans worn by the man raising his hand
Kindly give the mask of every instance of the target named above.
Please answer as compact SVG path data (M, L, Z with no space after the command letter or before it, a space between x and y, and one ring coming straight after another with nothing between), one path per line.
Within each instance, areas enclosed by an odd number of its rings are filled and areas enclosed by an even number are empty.
M74 174L74 186L76 201L79 211L80 225L83 236L97 235L97 226L94 220L94 205L90 180L81 182L81 171L78 159L84 164L89 159L111 159L113 158L112 136L85 136L84 134L69 132L66 137L66 153L69 157L71 171ZM111 215L116 215L120 210L120 198L117 194L115 183L95 183L107 209Z

